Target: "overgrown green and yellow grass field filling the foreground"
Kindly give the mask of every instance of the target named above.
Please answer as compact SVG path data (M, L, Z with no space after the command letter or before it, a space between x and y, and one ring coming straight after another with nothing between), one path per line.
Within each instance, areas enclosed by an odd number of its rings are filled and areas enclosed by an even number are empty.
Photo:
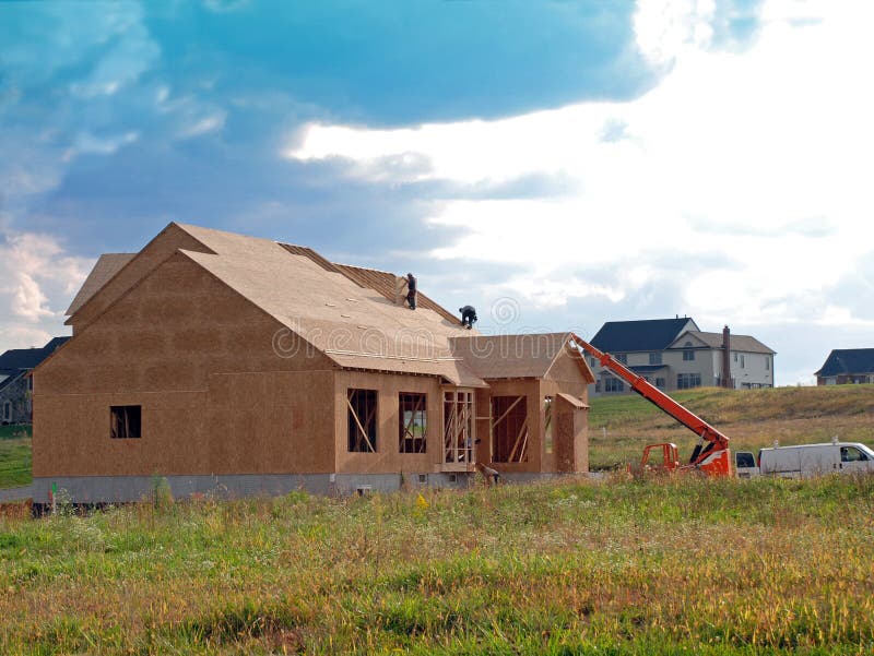
M0 653L874 649L874 477L423 494L11 513Z

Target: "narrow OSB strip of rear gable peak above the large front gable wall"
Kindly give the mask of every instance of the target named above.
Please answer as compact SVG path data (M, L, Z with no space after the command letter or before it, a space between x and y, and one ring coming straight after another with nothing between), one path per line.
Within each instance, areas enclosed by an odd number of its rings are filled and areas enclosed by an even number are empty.
M137 258L132 259L121 271L113 276L67 321L68 324L73 326L73 334L78 334L122 294L139 283L150 271L161 265L178 249L204 253L211 252L210 249L175 224L168 225L140 251Z

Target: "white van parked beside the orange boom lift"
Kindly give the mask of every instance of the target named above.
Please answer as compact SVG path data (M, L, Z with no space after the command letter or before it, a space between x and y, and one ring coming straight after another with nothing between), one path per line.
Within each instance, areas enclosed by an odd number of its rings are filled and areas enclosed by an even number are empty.
M761 449L758 458L748 451L734 454L737 476L804 478L824 474L874 473L874 451L859 442L828 442Z

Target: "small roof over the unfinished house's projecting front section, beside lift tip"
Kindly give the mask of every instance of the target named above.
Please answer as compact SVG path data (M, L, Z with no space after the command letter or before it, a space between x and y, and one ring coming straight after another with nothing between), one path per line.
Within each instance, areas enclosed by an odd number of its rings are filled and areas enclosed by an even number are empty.
M464 335L451 337L453 355L484 380L545 378L556 358L567 350L579 361L583 378L594 382L577 349L568 348L570 333L531 335Z

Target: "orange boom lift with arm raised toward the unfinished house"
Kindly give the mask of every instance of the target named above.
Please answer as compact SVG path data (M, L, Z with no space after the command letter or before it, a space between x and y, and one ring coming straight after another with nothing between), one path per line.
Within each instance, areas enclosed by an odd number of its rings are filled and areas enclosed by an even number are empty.
M728 437L723 436L695 413L680 405L657 386L649 383L642 375L636 374L609 353L600 351L577 335L571 334L571 339L590 356L597 358L602 367L606 367L611 372L628 383L631 390L661 410L671 415L701 439L701 441L696 444L695 450L692 452L692 457L686 465L680 464L676 444L672 442L649 444L643 450L643 458L640 462L643 467L649 465L660 466L669 470L702 472L708 476L731 475L731 453L729 451ZM662 463L651 463L650 454L653 452L658 453L659 451L662 453Z

